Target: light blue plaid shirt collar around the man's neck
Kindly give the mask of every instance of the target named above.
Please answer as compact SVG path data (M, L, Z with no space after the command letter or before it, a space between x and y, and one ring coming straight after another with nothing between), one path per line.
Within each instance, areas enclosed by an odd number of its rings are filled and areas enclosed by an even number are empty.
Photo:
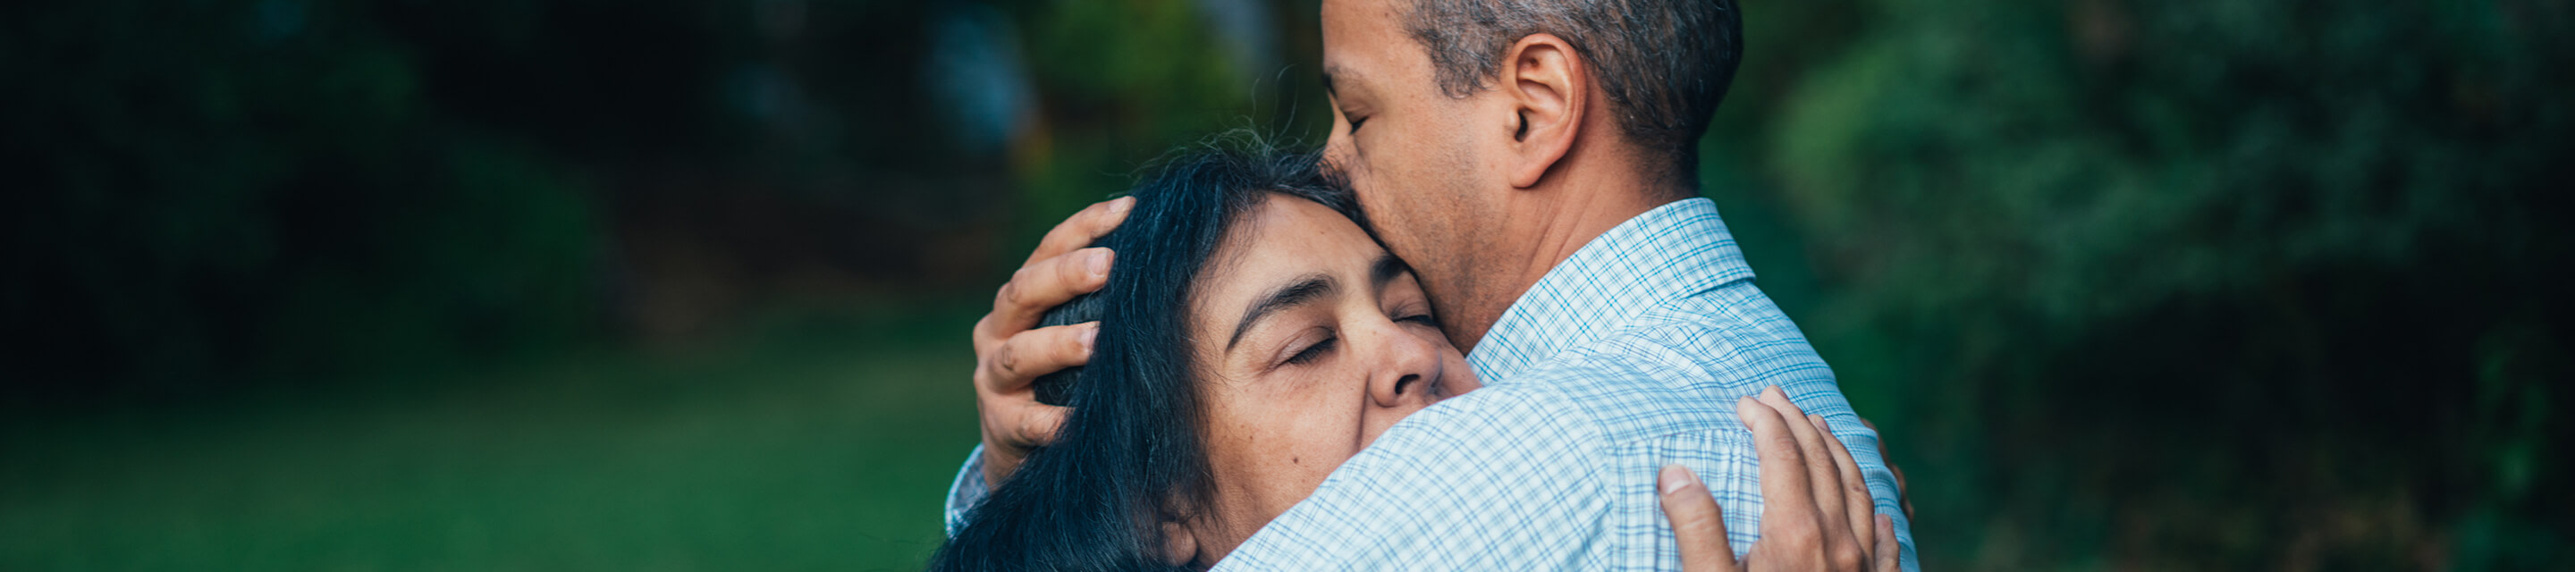
M1602 232L1573 258L1537 278L1486 330L1468 366L1486 381L1509 381L1530 366L1586 345L1676 301L1730 281L1754 278L1743 250L1718 219L1718 204L1687 198L1638 214Z

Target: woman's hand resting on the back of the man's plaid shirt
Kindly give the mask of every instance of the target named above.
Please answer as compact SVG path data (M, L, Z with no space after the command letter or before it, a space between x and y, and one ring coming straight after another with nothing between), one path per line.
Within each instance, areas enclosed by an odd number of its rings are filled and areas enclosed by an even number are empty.
M1761 541L1736 559L1725 513L1687 466L1663 466L1663 515L1681 546L1681 569L1875 569L1895 572L1895 520L1877 515L1859 464L1823 417L1797 410L1779 386L1736 402L1761 456Z

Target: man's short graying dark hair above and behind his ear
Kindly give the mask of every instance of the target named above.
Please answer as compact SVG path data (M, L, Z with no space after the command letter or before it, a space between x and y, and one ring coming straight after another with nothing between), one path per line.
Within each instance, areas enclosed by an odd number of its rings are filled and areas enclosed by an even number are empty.
M1736 0L1411 0L1403 26L1429 49L1450 98L1499 77L1514 41L1566 39L1609 93L1627 139L1648 162L1666 160L1648 167L1684 178L1743 59Z

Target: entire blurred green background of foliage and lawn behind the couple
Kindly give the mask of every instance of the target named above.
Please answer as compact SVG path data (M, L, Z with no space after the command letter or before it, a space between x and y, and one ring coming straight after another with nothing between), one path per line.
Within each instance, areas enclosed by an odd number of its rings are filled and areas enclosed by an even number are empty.
M1741 0L1934 569L2570 569L2575 3ZM0 8L0 569L909 569L968 325L1313 0Z

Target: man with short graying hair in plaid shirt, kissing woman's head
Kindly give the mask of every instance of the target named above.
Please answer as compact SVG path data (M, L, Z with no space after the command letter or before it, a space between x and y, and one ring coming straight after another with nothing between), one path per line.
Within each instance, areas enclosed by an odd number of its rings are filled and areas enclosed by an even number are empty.
M1326 0L1326 157L1486 386L1385 430L1218 567L1669 569L1692 546L1666 533L1666 464L1754 551L1774 466L1723 405L1779 386L1766 399L1815 412L1857 459L1849 490L1815 479L1797 500L1872 497L1916 569L1875 430L1697 198L1697 139L1738 59L1730 0ZM1082 363L1087 330L1027 317L1105 281L1110 253L1076 247L1112 224L1110 206L1076 214L976 325L984 446L953 510L1061 420L1027 379ZM1828 459L1805 456L1818 474ZM1774 544L1872 546L1867 515L1803 513L1854 533Z

